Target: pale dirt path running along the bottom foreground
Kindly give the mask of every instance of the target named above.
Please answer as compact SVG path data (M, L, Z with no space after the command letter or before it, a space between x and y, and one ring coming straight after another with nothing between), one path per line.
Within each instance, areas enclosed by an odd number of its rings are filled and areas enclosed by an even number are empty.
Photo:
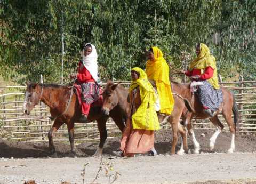
M115 183L256 183L252 182L256 181L255 153L109 158L114 157L102 158L103 170L96 183L108 183L104 168L109 168L109 162L114 169L109 171L121 174ZM18 184L30 179L37 184L83 183L81 173L86 163L85 183L89 183L99 169L100 158L0 159L0 183Z

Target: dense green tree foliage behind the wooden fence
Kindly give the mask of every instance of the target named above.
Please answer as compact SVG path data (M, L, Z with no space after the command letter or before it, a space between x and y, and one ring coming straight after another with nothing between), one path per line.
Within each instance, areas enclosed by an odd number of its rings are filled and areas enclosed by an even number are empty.
M255 12L253 0L2 0L0 71L20 83L38 81L39 74L59 83L63 33L66 78L87 42L97 47L104 80L130 79L131 67L145 67L152 45L182 68L181 55L195 57L195 44L204 42L224 77L255 79Z

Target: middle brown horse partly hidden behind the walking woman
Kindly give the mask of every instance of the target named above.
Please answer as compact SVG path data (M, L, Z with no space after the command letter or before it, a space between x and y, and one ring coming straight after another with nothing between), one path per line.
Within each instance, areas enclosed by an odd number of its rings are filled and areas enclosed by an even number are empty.
M107 115L112 109L118 107L121 108L125 113L126 116L128 114L128 90L124 89L122 85L114 84L111 81L108 81L105 90L102 93L103 95L103 106L102 110ZM183 146L181 148L182 151L178 151L178 154L182 154L185 150L188 153L188 145L187 145L187 132L183 129L182 125L179 123L181 114L183 109L185 108L185 104L183 102L183 98L180 95L174 94L173 95L175 103L174 109L170 116L159 116L159 122L163 122L164 119L168 119L168 121L172 125L172 132L173 132L173 140L172 140L172 148L171 154L175 154L175 147L178 141L178 131L182 135Z

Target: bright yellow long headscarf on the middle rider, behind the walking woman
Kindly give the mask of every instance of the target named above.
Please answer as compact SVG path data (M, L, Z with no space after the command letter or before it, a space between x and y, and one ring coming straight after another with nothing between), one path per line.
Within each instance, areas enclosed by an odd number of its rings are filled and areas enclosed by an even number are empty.
M157 47L151 47L154 60L146 63L146 74L156 82L157 93L160 98L160 113L170 115L174 106L174 99L169 81L169 66L163 58L163 53Z

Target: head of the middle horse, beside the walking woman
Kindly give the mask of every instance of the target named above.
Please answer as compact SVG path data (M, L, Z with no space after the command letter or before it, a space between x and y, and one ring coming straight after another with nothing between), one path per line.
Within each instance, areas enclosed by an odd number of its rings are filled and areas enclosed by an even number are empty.
M118 104L116 88L119 84L120 83L114 84L112 81L108 81L105 90L102 93L102 111L105 115L108 115L109 111L112 110Z

